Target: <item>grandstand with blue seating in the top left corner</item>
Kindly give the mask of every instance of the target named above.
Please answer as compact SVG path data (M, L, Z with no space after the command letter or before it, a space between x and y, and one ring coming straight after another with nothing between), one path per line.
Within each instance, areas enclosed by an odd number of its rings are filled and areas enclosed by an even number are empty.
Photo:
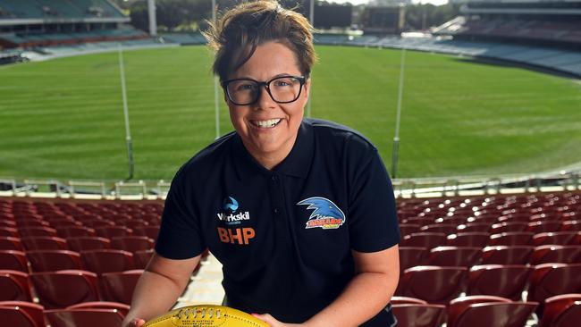
M51 54L50 49L92 50L156 44L129 24L130 18L107 0L0 0L0 49ZM94 49L93 49L94 50ZM64 50L66 53L66 49Z

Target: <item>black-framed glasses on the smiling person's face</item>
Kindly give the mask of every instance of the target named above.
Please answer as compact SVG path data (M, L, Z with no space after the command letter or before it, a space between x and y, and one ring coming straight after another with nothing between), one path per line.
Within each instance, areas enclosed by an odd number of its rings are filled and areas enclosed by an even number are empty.
M252 79L224 80L222 87L234 105L252 105L258 101L264 86L268 95L279 104L297 101L305 85L304 76L279 76L264 82Z

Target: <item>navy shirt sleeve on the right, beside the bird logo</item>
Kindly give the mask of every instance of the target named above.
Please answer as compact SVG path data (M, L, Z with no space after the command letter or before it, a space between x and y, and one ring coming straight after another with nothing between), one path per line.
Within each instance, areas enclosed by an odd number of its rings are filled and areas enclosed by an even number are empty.
M349 239L359 252L377 252L400 242L392 181L375 147L354 165L349 191ZM361 157L360 157L361 158Z

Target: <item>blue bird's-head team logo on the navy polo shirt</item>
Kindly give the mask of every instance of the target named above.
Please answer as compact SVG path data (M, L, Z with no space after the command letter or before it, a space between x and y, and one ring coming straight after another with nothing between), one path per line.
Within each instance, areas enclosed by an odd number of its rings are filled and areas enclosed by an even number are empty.
M336 230L345 222L345 214L333 203L324 197L309 197L300 201L297 205L308 205L313 213L308 217L305 228L320 227L324 230Z

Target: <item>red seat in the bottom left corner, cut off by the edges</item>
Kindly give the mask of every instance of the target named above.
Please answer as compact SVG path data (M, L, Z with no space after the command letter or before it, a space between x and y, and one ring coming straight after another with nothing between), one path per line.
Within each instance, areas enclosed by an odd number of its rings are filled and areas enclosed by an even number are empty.
M0 322L10 327L45 327L44 307L24 301L1 301Z

